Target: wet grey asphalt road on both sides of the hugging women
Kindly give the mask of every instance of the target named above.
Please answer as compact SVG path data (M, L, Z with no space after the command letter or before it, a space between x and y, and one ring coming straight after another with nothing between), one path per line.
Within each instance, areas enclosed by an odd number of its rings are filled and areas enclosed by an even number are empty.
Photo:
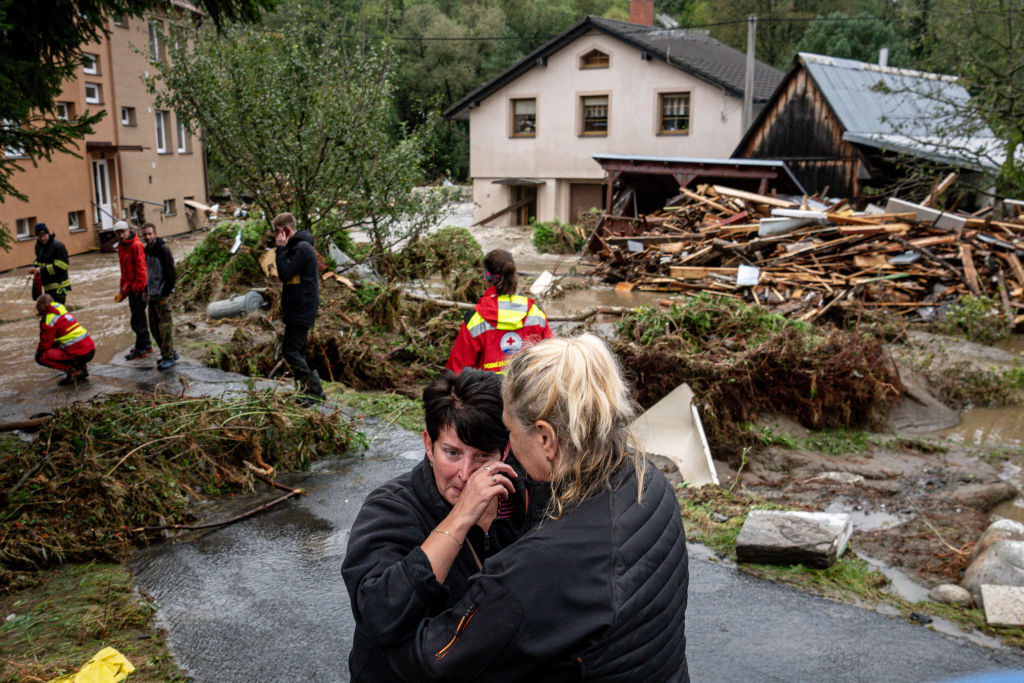
M347 680L348 530L362 498L420 457L419 435L387 429L365 457L298 475L293 483L309 495L294 505L140 552L133 567L179 665L198 681ZM694 681L939 681L1024 670L1022 654L696 557L686 631Z

